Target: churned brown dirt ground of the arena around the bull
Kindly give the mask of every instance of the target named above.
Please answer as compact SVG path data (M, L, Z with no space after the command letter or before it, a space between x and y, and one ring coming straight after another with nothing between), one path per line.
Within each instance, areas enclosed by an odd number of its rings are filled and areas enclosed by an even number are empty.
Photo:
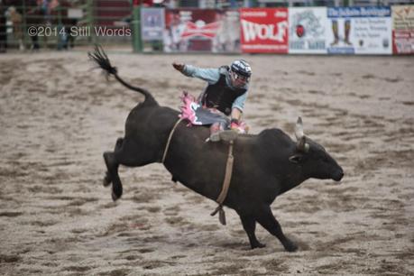
M170 66L235 56L111 54L119 73L162 105L204 83ZM252 133L305 133L345 170L310 179L272 205L299 244L286 253L258 226L250 250L235 211L170 181L161 164L120 170L124 196L102 186L102 153L143 99L93 69L86 52L0 56L1 275L413 275L414 59L245 56Z

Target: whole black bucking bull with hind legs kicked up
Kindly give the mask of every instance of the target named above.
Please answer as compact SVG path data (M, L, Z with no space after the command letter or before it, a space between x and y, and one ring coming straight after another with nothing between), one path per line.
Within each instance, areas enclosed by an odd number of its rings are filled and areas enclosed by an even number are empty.
M118 139L115 151L104 153L107 167L104 185L112 183L112 197L116 200L123 192L119 165L140 167L161 162L179 112L159 106L148 91L125 83L104 51L97 49L89 56L124 86L145 97L128 115L124 138ZM216 200L223 186L229 144L206 143L207 127L187 127L186 124L181 122L177 126L163 164L173 180ZM300 119L295 134L297 143L274 128L256 135L242 134L235 140L233 176L224 205L235 209L240 216L252 248L264 246L254 234L257 222L275 235L287 251L296 251L298 247L283 234L281 225L272 215L271 203L306 179L339 181L344 176L342 168L325 149L303 134Z

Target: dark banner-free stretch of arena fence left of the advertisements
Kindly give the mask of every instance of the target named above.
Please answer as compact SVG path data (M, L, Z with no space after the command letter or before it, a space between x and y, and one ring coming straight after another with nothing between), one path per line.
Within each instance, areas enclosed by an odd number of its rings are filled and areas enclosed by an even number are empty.
M60 1L60 5L46 7L19 2L3 11L9 48L61 50L94 43L132 45L132 35L116 35L132 32L132 6L127 0Z

